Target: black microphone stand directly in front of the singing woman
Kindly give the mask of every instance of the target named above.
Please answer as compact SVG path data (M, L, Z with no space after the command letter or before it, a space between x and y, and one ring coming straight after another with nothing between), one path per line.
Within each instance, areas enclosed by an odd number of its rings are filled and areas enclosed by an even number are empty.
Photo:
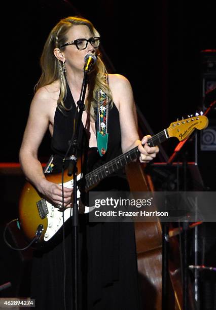
M80 99L77 102L77 107L79 108L78 118L77 122L75 122L75 128L73 137L71 140L68 141L69 147L66 152L66 156L72 148L71 156L69 158L65 159L69 161L68 165L68 172L67 175L71 176L73 174L73 180L74 180L74 191L73 191L73 198L74 198L74 204L73 204L73 216L72 216L72 226L73 226L73 241L74 241L74 251L73 251L73 258L74 258L74 285L73 285L73 309L78 310L78 276L79 276L79 269L78 269L78 263L79 263L79 249L78 249L78 231L79 231L79 218L78 218L78 202L77 202L77 156L78 156L78 138L79 138L79 129L82 122L82 114L85 110L85 95L86 95L86 88L88 84L88 77L87 72L84 73L83 77L83 84L81 88L80 93Z

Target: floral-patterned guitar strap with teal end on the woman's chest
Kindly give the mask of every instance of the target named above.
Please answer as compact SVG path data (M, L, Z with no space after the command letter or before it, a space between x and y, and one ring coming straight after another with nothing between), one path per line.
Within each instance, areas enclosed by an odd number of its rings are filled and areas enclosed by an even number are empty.
M107 74L106 74L106 83ZM106 94L100 89L98 92L97 106L97 148L100 156L103 156L107 150L109 133L108 129L108 103Z

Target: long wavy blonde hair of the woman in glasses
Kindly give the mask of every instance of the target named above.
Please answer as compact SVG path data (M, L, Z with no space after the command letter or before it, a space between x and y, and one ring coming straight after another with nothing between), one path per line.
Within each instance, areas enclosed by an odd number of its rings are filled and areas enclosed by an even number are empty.
M66 110L66 107L64 105L64 98L66 97L66 78L62 69L62 63L55 57L53 50L55 48L60 49L60 47L67 42L67 32L71 27L75 25L86 25L89 27L93 36L100 36L98 31L94 28L93 24L87 19L74 16L69 16L61 19L57 23L57 25L51 30L44 45L40 60L42 74L34 88L36 92L43 86L51 84L57 80L60 81L60 93L57 106L62 112ZM64 49L65 47L61 48L62 51L64 51ZM109 85L106 83L106 74L107 71L104 63L101 60L101 54L98 49L97 62L94 66L94 70L89 73L90 91L87 98L87 111L89 111L94 118L94 107L97 106L99 89L101 89L106 94L111 107L113 105L112 93Z

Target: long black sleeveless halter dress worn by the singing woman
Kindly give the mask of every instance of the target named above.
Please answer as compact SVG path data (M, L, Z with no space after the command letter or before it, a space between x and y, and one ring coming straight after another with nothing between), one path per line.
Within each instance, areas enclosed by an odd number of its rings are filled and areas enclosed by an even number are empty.
M51 147L54 170L61 171L61 161L73 134L76 105L67 88L65 115L56 109ZM93 167L102 165L122 153L119 112L115 104L109 111L107 152ZM81 127L80 150L88 141ZM106 178L102 185L109 190L129 190L123 170ZM100 185L101 186L101 185ZM108 186L108 187L107 187ZM139 310L137 260L134 225L130 222L88 222L79 218L79 310ZM31 298L37 309L73 309L73 238L65 238L66 279L63 269L63 243L44 252L35 251L32 261ZM64 298L65 292L65 298Z

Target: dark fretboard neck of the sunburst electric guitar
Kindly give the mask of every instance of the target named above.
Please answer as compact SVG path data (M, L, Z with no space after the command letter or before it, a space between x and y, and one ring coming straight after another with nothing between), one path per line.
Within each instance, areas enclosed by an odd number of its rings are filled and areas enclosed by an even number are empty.
M155 146L168 138L169 136L167 129L164 129L163 131L150 138L148 140L148 145ZM127 151L126 153L121 154L120 156L111 160L110 162L107 162L99 168L94 169L92 172L89 172L88 174L86 174L86 190L103 180L105 177L123 168L126 164L134 161L139 156L140 152L138 150L138 147L136 146L131 150Z

